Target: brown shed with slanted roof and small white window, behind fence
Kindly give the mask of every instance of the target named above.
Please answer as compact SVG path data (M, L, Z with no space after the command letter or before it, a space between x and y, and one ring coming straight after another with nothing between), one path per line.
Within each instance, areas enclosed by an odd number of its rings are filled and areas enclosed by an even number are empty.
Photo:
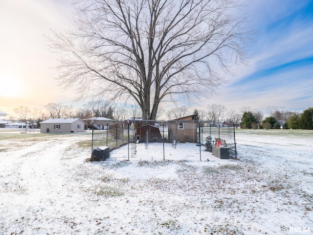
M197 115L171 120L168 127L169 141L176 142L198 142Z

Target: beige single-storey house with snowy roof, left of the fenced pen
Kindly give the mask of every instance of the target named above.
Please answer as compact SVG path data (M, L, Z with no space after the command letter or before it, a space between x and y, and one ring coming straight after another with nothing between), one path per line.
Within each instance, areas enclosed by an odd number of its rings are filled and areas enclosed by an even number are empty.
M41 133L83 132L85 123L79 118L50 118L40 122Z

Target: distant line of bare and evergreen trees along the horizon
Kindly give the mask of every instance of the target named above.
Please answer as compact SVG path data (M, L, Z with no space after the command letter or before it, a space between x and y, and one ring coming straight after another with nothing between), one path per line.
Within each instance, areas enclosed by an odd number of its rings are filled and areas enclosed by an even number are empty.
M292 112L285 107L268 107L268 116L264 118L262 111L250 107L242 107L241 110L226 109L224 105L211 104L205 109L193 109L188 106L177 106L167 111L158 109L158 120L173 120L196 114L199 120L207 120L212 125L220 122L240 124L241 128L248 129L313 129L313 107L309 107L302 113ZM44 109L34 108L32 111L28 107L20 106L14 109L16 117L20 121L32 120L35 124L48 118L80 118L90 120L93 117L104 117L113 120L123 120L125 118L141 118L141 109L138 105L113 104L101 99L93 99L79 109L59 103L48 103Z

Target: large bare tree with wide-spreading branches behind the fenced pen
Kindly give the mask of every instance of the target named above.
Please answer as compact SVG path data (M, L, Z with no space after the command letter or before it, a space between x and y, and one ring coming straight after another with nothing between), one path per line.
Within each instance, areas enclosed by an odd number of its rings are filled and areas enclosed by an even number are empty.
M58 80L78 99L131 99L155 119L161 101L210 96L218 71L246 62L250 30L233 0L76 0L74 29L48 36Z

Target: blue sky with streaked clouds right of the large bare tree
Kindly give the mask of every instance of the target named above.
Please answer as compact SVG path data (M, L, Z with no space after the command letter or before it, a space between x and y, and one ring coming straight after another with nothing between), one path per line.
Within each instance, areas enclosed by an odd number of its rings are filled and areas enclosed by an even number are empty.
M247 1L255 25L249 66L235 66L235 77L219 97L226 108L250 106L266 111L283 106L303 111L313 106L313 1ZM240 103L240 105L239 105Z

